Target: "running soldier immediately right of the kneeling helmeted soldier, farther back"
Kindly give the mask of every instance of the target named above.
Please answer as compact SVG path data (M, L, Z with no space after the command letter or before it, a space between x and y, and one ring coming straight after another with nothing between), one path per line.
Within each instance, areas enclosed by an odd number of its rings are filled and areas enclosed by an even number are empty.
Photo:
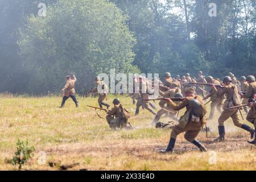
M145 101L148 99L148 93L153 93L153 89L148 85L149 83L146 78L139 77L139 98L136 104L135 115L139 114L139 107L141 106L150 111L150 113L156 115L155 111L150 108L150 102Z

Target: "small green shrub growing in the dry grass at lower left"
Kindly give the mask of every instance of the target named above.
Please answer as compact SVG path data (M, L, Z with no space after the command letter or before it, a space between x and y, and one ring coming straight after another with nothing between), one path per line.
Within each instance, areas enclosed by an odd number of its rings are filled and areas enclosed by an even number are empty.
M28 140L26 142L19 140L16 142L17 151L15 152L15 156L13 158L13 165L19 164L19 170L22 169L22 165L24 165L28 159L32 158L33 152L35 151L34 146L28 146Z

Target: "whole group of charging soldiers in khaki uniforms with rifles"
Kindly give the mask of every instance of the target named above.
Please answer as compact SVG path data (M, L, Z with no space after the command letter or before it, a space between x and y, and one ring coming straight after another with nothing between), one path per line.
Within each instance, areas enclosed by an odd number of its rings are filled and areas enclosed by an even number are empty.
M156 85L155 82L158 82ZM73 75L67 76L67 82L62 89L64 92L63 102L61 107L64 106L65 101L71 97L78 107L75 93L76 77ZM96 87L92 92L97 92L99 88L105 90L98 94L98 105L100 109L105 110L107 113L106 120L112 129L126 128L131 129L132 126L128 122L130 113L121 104L118 98L113 101L113 109L109 110L109 105L104 102L108 94L108 86L100 77L95 78ZM135 86L138 85L138 86ZM232 118L235 126L246 130L250 134L249 141L255 144L255 129L241 122L238 117L241 110L245 110L247 114L247 121L256 127L256 81L254 76L242 76L239 80L233 73L229 73L223 80L213 78L212 76L205 77L203 72L198 72L197 78L192 78L189 73L185 76L177 75L175 78L171 77L170 73L165 73L163 82L154 78L150 81L142 76L134 75L133 78L133 91L129 96L133 99L133 104L136 104L135 115L139 114L139 109L142 107L155 115L152 124L156 127L162 127L164 124L159 122L162 115L170 117L179 121L175 126L172 126L171 138L166 150L161 152L172 152L175 146L177 135L185 133L185 139L195 144L201 151L207 151L198 140L197 135L203 129L207 121L214 119L214 113L217 109L220 113L218 118L218 134L219 137L214 139L213 142L222 142L225 140L225 126L224 122L228 118ZM155 88L157 87L157 88ZM161 109L156 112L156 107L149 99L154 90L158 89L159 97L152 100L160 100L159 106ZM210 100L208 101L208 99ZM205 103L208 101L207 103ZM210 103L210 115L206 118L206 107ZM106 106L106 109L103 109ZM185 114L177 118L179 110L186 108ZM129 123L129 125L128 125ZM114 126L114 127L113 127Z

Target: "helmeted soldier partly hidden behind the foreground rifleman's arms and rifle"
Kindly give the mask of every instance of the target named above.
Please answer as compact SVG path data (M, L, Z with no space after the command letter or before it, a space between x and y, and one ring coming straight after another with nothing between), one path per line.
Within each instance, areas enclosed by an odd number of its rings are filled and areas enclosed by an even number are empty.
M181 90L177 87L177 83L176 82L172 82L172 84L169 85L169 87L171 88L170 90L164 92L164 98L171 98L171 97L183 97L181 94ZM167 104L167 106L165 106ZM162 115L164 114L169 114L167 110L171 111L171 117L174 117L177 114L177 111L172 110L172 107L167 103L166 100L161 100L159 102L159 106L162 108L158 111L158 113L155 116L154 121L152 122L153 125L155 125L159 119L161 118Z

